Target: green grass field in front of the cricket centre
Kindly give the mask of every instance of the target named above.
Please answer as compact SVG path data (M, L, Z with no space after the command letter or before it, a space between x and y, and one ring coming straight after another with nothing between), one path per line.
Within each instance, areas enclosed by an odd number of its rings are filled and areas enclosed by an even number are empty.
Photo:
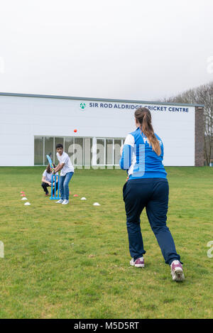
M75 170L62 206L44 196L43 169L0 168L1 318L213 317L213 168L166 168L183 283L172 281L145 212L146 267L129 266L124 171Z

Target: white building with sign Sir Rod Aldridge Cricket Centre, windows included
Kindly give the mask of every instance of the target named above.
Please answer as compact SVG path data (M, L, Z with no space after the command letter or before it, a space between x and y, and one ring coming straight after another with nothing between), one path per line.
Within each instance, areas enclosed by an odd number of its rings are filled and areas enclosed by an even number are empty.
M57 143L76 166L119 165L138 107L151 110L165 166L203 165L202 105L0 93L0 166L57 163Z

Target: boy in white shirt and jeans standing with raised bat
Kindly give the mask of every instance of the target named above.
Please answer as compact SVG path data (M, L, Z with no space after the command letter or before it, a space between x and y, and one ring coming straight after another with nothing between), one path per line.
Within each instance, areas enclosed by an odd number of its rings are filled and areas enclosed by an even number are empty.
M69 182L74 173L74 168L71 163L70 157L67 153L65 153L64 148L61 143L56 145L56 155L59 160L59 163L56 168L54 168L54 172L57 173L60 171L60 182L59 182L59 190L60 190L60 200L56 203L58 204L68 204L69 203Z

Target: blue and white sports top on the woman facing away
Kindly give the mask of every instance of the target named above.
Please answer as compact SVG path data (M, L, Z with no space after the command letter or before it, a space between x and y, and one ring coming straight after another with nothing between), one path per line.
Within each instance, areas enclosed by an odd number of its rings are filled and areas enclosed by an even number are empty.
M148 138L141 133L140 127L126 136L120 159L121 169L127 170L129 179L166 178L163 166L163 142L157 134L161 154L158 156L148 143Z

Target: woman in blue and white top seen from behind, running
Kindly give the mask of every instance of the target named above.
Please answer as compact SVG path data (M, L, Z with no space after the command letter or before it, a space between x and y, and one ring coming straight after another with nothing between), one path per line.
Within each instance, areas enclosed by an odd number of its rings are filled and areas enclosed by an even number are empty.
M176 252L173 236L166 226L168 212L168 180L163 166L163 142L153 131L151 112L146 108L135 112L136 131L130 133L121 149L121 168L129 180L123 194L126 225L129 236L131 266L144 267L141 212L146 207L148 221L163 254L171 268L173 280L184 280L180 256Z

